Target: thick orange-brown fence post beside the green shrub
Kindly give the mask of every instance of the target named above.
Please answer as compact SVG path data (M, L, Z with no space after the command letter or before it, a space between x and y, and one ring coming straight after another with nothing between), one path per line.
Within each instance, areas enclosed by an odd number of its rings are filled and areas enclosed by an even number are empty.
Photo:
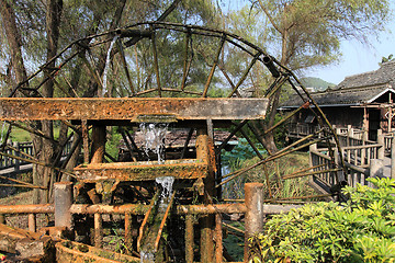
M263 231L263 184L246 183L245 184L245 204L246 213L246 233L245 233L245 254L244 262L248 262L249 248L248 239L253 235Z

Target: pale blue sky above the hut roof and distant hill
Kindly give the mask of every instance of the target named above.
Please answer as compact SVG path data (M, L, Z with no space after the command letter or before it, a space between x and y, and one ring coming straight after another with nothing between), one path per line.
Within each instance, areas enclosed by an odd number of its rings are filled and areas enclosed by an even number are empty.
M219 2L225 10L238 10L249 3L248 0L222 0ZM225 4L225 2L228 3ZM391 54L395 56L395 1L390 0L390 2L393 9L393 19L387 28L393 30L393 33L382 32L377 41L375 37L369 37L370 46L362 45L358 41L343 41L340 48L342 57L339 62L309 70L305 72L305 76L298 77L316 77L338 84L348 76L379 69L382 57L387 57Z

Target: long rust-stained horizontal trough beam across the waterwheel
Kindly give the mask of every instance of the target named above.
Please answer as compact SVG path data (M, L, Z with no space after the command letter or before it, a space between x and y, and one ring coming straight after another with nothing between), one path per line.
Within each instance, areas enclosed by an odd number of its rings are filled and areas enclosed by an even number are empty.
M1 98L0 121L263 118L267 99Z

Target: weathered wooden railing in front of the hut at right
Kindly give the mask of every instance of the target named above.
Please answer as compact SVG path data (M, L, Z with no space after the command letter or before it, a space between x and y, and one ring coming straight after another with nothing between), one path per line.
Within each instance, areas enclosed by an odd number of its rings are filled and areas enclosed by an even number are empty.
M339 192L346 184L370 185L368 178L395 178L395 151L392 151L395 147L394 134L383 134L379 130L377 141L373 141L369 140L368 133L361 129L351 126L334 128L341 148L341 152L335 149L335 163L329 157L328 148L317 144L309 146L311 185L317 192ZM316 127L307 124L290 125L289 134L303 137L315 129Z

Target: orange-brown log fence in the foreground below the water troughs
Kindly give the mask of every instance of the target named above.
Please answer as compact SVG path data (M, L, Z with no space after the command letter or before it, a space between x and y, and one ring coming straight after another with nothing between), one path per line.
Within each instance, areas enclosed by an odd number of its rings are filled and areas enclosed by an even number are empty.
M291 209L298 208L301 205L273 205L266 204L264 199L264 185L262 183L246 183L245 184L245 199L242 203L227 203L227 204L213 204L213 205L176 205L172 214L179 215L185 218L185 261L193 263L194 261L194 248L198 243L194 241L194 229L199 222L195 218L214 215L214 236L216 238L215 247L215 261L202 261L202 262L223 262L223 228L227 228L229 225L223 224L223 214L245 214L245 231L241 233L245 236L245 261L250 259L249 242L247 240L257 232L262 232L264 217L267 215L287 213ZM87 222L84 227L86 233L91 235L92 241L97 248L103 247L103 224L102 215L121 215L124 221L124 240L125 244L131 248L133 243L133 232L138 230L133 225L132 216L149 216L149 208L151 205L144 204L123 204L123 205L106 205L106 204L74 204L72 191L74 184L71 182L59 182L54 184L55 198L54 204L38 204L38 205L0 205L0 216L13 216L13 215L29 215L29 230L37 230L37 214L52 214L55 217L55 227L49 228L49 235L53 233L58 239L63 233L67 233L66 229L72 229L78 227L74 222L72 215L92 215L93 226L91 222ZM91 231L87 231L91 229ZM122 228L122 226L120 225ZM48 228L46 228L48 229ZM1 232L0 238L9 232ZM3 243L8 243L4 240ZM82 245L82 244L81 244ZM201 250L206 249L200 247ZM109 253L109 251L106 252ZM79 254L81 252L79 251ZM99 260L98 260L99 261ZM64 261L61 261L64 262ZM77 262L82 262L78 261ZM83 261L91 262L91 261ZM109 262L109 261L100 261ZM143 261L142 261L143 262ZM144 261L145 262L145 261ZM241 263L241 262L240 262Z

